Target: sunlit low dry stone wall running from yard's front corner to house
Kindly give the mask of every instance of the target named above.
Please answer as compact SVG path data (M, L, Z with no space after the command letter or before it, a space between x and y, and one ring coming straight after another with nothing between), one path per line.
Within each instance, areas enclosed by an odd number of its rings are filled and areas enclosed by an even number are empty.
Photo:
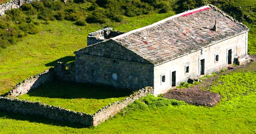
M149 94L154 94L154 89L152 87L145 87L145 89L140 89L135 91L132 95L122 100L121 102L114 102L108 106L101 108L93 115L93 125L97 126L108 118L117 114L121 109L127 107L129 104L133 103L135 100L145 97Z

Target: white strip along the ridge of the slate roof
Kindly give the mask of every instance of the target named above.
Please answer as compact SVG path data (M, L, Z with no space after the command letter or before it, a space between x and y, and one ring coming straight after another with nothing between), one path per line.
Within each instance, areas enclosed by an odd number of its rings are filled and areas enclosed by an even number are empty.
M159 24L164 23L164 22L166 22L166 21L168 21L168 20L170 20L170 19L174 19L174 18L177 18L177 17L179 17L179 16L182 16L182 15L185 15L185 14L188 14L188 13L193 13L193 12L195 12L195 11L202 10L202 9L208 8L208 7L210 7L210 6L209 6L209 5L201 6L201 7L195 8L195 9L193 9L193 10L189 10L189 11L186 11L186 12L183 12L183 13L175 14L175 15L173 15L173 16L170 16L170 17L166 18L166 19L162 19L162 20L160 20L160 21L158 21L158 22L155 22L155 23L153 23L153 24L151 24L151 25L144 26L144 27L141 27L141 28L138 28L138 29L135 29L135 30L126 32L126 33L124 33L124 34L121 34L121 35L116 36L116 37L111 38L111 39L112 39L112 40L115 40L115 39L124 37L124 36L126 36L126 35L129 35L129 34L131 34L131 33L138 32L138 31L141 31L141 30L144 30L144 29L147 29L147 28L150 28L150 27L159 25Z

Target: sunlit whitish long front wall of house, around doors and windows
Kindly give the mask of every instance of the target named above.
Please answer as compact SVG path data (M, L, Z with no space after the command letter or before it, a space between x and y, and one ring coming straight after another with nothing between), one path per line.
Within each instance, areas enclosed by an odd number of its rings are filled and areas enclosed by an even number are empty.
M186 82L189 77L200 77L200 60L205 59L205 75L214 71L219 71L228 65L228 50L232 49L232 63L235 57L245 57L247 55L248 32L236 37L223 40L209 47L189 53L164 64L154 67L154 89L155 95L164 93L171 88L171 73L176 71L176 85ZM216 55L219 61L215 60ZM186 66L189 66L189 73L186 73ZM162 82L165 76L165 82Z

